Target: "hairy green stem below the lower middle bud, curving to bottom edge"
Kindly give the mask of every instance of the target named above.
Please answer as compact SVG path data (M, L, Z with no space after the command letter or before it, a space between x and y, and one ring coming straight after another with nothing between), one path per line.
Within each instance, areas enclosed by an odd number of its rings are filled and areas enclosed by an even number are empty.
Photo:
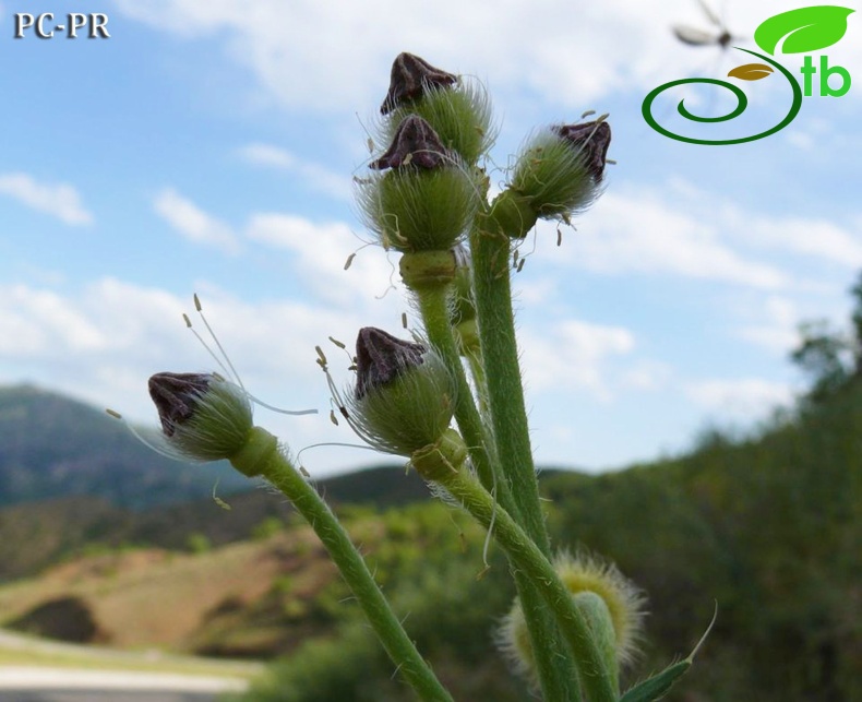
M575 607L553 566L488 491L463 466L457 471L435 472L432 479L442 485L486 528L493 528L494 537L505 550L513 566L519 569L550 609L568 643L578 670L578 679L590 702L615 702L614 682L595 641L588 623ZM525 611L525 616L527 612ZM535 644L535 639L530 636ZM549 641L540 644L550 645ZM534 649L534 654L539 650ZM559 655L559 651L552 650Z

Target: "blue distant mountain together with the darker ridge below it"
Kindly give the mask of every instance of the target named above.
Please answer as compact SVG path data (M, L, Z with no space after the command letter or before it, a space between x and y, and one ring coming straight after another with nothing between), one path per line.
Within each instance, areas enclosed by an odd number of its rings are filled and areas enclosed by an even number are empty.
M230 509L213 499L218 496ZM334 505L429 498L415 473L373 467L315 481ZM0 582L93 548L187 549L250 538L291 508L227 463L166 459L121 423L32 385L0 388Z

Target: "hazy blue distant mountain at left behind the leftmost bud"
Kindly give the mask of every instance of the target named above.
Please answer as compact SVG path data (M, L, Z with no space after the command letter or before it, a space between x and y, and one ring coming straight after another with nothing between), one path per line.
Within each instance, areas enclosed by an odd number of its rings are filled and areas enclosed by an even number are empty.
M32 385L0 388L0 505L70 496L142 509L248 489L227 464L166 459L104 412Z

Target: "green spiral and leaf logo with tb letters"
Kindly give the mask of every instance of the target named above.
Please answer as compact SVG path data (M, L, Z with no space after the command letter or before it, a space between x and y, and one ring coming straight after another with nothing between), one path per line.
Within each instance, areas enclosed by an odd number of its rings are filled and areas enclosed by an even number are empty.
M812 56L805 56L799 69L803 79L802 86L800 86L799 81L787 68L769 57L775 56L775 52L779 50L779 45L781 53L810 53L812 51L821 51L837 44L847 32L847 17L853 12L854 10L850 8L841 8L838 5L815 5L782 12L761 23L754 32L755 44L769 56L764 56L757 51L751 51L740 47L733 47L739 51L750 53L765 62L738 66L728 73L728 78L751 82L759 81L771 75L780 75L788 81L793 93L792 104L785 118L775 127L753 134L752 136L709 140L675 134L658 123L653 116L653 103L655 99L660 93L667 90L686 84L718 85L729 90L737 98L737 107L730 112L718 117L699 117L685 107L685 100L680 100L677 106L677 111L682 115L683 118L694 122L710 123L726 122L742 115L749 106L749 98L745 93L733 83L711 78L686 78L659 85L644 98L644 104L640 107L644 119L659 134L690 144L723 146L729 144L742 144L775 134L793 121L802 107L803 95L805 97L811 97L814 94L815 83L817 83L816 87L821 96L841 97L850 90L851 79L850 72L846 68L841 66L830 66L827 56L822 55L819 57L818 66L815 66ZM817 81L815 81L815 76L817 76ZM829 81L833 76L839 79L840 84L837 84L837 80L830 83Z

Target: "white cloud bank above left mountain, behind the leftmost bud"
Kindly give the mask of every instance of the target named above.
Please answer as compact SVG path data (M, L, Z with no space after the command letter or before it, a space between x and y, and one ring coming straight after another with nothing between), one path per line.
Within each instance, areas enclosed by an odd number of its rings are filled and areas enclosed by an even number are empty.
M304 300L252 304L205 284L199 289L207 319L249 391L280 407L322 413L298 418L259 411L259 421L283 436L295 453L320 441L356 442L349 429L333 427L326 417L328 389L315 364L314 345L328 355L336 382L348 383L350 361L327 337L342 338L350 348L361 325L384 324L380 316L359 319L344 308ZM112 407L131 420L154 424L146 392L152 373L218 370L185 329L183 311L206 337L191 299L155 287L117 278L64 294L0 287L0 382L34 379L97 407ZM345 449L303 455L314 475L375 460L371 453Z

